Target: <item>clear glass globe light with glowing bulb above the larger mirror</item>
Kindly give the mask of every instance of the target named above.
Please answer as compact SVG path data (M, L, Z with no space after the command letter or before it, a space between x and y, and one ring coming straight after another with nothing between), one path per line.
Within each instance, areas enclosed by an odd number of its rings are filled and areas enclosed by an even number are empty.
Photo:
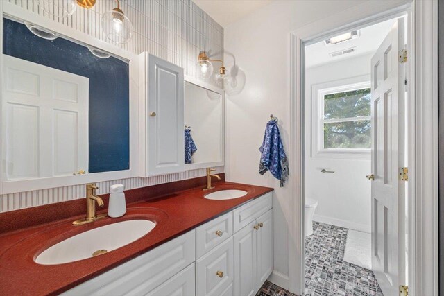
M133 35L133 24L130 19L123 14L120 9L119 0L116 0L117 7L102 15L102 30L108 40L115 43L126 43Z

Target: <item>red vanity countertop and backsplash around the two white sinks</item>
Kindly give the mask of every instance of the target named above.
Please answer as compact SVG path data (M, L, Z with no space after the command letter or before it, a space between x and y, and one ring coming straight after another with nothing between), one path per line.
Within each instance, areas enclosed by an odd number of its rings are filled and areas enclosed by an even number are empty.
M0 214L0 295L62 293L241 204L273 191L271 188L225 181L216 182L215 188L210 191L203 191L200 185L203 179L196 180L198 186L191 189L184 189L187 187L185 183L189 186L189 182L182 181L180 186L175 185L178 182L173 182L126 191L127 201L129 199L130 203L123 217L107 217L87 225L71 225L72 221L84 216L78 215L82 207L86 211L83 199ZM223 189L241 189L248 194L232 200L204 198L207 193ZM167 192L168 190L171 191ZM152 191L159 194L155 196ZM105 204L108 204L108 195L102 196ZM58 211L54 210L51 215L51 209ZM106 209L103 211L106 212ZM70 213L77 215L70 216ZM51 220L54 216L62 219ZM35 257L43 250L65 238L110 223L138 218L153 220L156 227L129 245L101 256L60 265L39 265L34 262Z

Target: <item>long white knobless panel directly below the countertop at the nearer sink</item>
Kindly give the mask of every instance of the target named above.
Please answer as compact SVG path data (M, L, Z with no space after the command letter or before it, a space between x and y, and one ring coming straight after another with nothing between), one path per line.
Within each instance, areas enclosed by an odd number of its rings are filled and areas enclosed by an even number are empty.
M144 295L193 263L195 242L192 230L68 290L64 295Z

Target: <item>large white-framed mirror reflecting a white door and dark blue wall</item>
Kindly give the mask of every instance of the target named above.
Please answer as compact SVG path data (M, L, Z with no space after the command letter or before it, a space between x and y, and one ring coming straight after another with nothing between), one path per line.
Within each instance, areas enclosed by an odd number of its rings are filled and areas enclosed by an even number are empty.
M137 176L137 55L3 4L0 193Z

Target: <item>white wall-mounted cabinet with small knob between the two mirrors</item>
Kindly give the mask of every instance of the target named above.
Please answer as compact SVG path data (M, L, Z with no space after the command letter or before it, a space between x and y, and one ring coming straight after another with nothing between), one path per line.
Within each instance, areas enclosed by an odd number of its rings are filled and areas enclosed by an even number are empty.
M148 53L141 60L144 175L185 171L183 69Z

